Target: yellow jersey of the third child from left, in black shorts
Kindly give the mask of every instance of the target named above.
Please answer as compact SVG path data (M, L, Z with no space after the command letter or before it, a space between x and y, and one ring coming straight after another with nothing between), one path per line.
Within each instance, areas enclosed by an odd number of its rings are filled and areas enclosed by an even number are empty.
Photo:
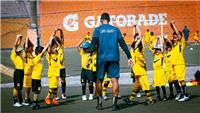
M41 54L33 58L33 72L31 74L32 79L41 80L42 70L43 70L41 59L42 59Z

